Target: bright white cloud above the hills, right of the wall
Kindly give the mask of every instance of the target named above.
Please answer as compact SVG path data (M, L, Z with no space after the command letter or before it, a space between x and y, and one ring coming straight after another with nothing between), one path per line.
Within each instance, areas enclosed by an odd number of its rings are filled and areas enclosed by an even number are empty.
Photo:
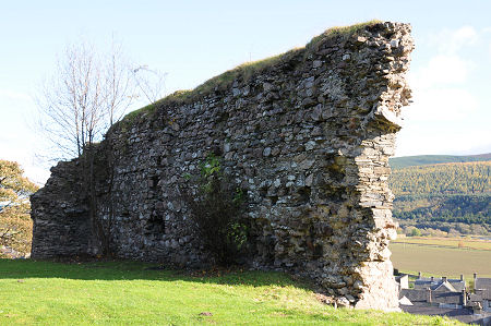
M475 123L482 116L481 98L471 85L477 61L465 50L479 38L470 26L433 36L433 56L408 74L414 102L403 110L397 156L469 154L491 147L488 128Z

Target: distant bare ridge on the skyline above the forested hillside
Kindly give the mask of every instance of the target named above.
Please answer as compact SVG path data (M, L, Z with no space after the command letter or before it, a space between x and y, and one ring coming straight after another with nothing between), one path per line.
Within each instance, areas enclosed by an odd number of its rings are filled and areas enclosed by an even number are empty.
M478 155L416 155L403 156L388 159L393 169L414 166L426 166L447 162L488 161L491 160L491 153Z

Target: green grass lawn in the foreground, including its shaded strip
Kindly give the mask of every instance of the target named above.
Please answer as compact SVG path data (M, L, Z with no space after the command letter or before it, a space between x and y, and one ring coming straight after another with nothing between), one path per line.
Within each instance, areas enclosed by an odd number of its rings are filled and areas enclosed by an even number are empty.
M149 264L0 259L0 325L453 325L334 309L279 273L189 276ZM154 265L155 266L155 265Z

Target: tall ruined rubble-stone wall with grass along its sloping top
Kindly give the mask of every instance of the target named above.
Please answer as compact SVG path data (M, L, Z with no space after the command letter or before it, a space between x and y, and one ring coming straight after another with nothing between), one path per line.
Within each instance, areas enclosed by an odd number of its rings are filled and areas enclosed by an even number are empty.
M179 184L218 153L247 190L252 267L308 276L357 307L397 307L388 157L412 47L407 24L328 32L127 117L96 149L99 229L80 161L60 162L32 197L33 257L98 254L109 228L118 257L206 264Z

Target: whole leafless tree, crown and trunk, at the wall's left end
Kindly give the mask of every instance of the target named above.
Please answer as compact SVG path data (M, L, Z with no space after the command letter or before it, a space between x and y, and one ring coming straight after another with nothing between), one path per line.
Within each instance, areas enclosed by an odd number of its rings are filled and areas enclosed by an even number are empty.
M67 47L57 71L45 83L37 99L39 130L49 138L51 158L80 158L82 191L86 194L88 218L103 254L110 255L112 207L109 220L97 218L95 142L120 120L130 105L140 98L154 104L161 95L164 74L146 65L131 68L121 45L112 39L110 51L99 55L93 46L80 44ZM143 69L145 67L145 69ZM112 153L107 153L109 190L112 188Z

